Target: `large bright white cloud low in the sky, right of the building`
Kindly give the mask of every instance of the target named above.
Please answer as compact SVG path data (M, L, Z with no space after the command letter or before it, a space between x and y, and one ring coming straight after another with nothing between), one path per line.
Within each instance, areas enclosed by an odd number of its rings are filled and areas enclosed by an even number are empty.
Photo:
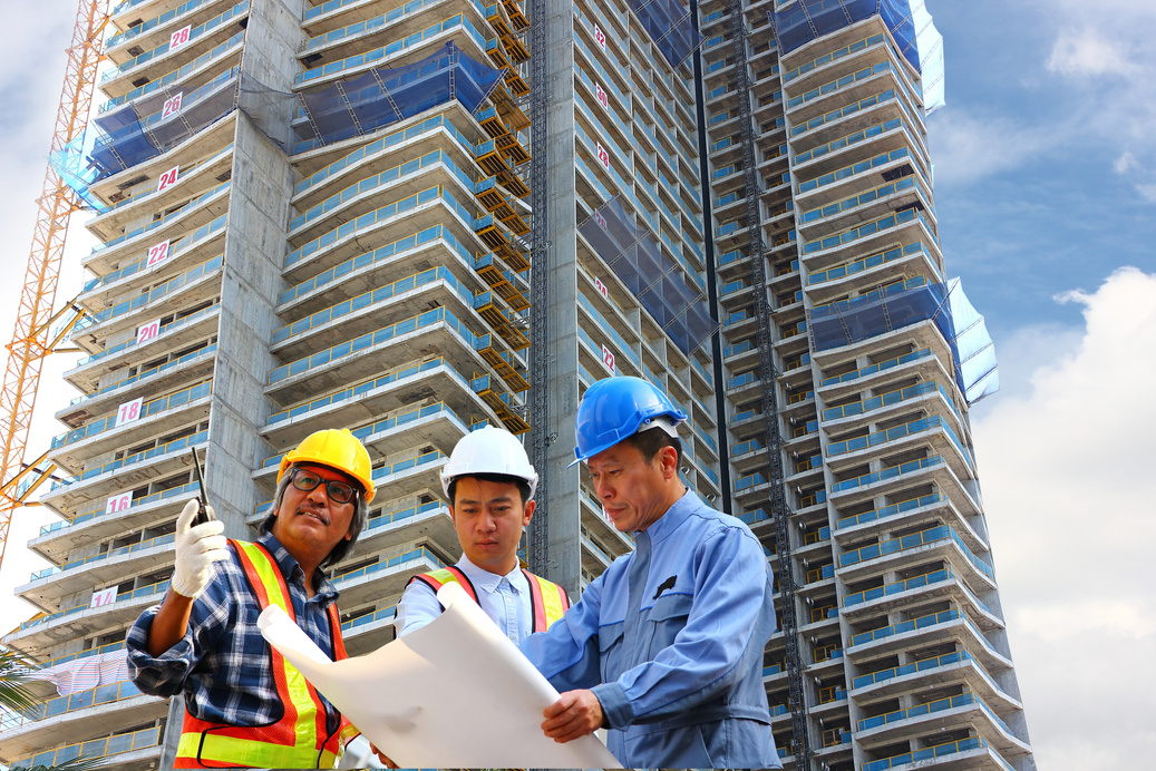
M976 410L992 548L1039 768L1139 768L1156 754L1156 275L1058 299L1083 306L1079 342L1025 335L1051 359Z

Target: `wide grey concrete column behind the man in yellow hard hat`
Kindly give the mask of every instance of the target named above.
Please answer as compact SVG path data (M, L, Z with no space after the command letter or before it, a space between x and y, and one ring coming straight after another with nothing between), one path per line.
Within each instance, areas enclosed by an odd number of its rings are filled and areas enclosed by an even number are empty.
M243 73L275 90L290 90L298 69L302 7L303 0L253 0ZM244 98L240 105L246 108ZM265 497L252 470L273 451L258 431L271 414L265 383L274 364L269 339L280 326L274 311L284 288L281 266L295 173L284 151L245 112L236 120L205 483L225 535L249 539L245 517ZM276 139L283 143L288 118L281 123L283 135ZM171 699L162 769L172 768L184 714L184 699Z

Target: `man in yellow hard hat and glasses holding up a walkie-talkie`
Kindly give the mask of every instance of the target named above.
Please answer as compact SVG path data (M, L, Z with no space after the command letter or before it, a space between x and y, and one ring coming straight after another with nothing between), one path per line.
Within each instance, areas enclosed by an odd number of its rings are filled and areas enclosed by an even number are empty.
M282 458L255 542L227 540L215 519L194 526L199 503L185 505L169 592L126 643L141 691L185 696L173 768L333 768L356 736L269 647L257 617L277 605L332 659L346 658L338 592L321 568L342 559L365 526L371 473L353 433L318 431Z

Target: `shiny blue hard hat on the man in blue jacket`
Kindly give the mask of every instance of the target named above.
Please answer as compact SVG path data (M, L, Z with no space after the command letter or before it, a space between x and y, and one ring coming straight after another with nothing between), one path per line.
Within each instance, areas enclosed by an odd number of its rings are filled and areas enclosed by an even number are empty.
M687 420L687 414L661 390L642 378L617 376L595 381L586 388L578 405L575 418L577 460L570 465L593 458L660 417L677 425Z

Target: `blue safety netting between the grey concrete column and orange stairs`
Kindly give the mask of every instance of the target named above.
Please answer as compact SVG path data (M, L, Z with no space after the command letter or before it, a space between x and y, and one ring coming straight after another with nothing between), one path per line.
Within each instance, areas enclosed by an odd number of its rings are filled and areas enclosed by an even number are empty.
M379 67L324 89L301 94L295 153L366 134L458 99L470 112L497 87L505 69L470 59L451 40L405 67Z

